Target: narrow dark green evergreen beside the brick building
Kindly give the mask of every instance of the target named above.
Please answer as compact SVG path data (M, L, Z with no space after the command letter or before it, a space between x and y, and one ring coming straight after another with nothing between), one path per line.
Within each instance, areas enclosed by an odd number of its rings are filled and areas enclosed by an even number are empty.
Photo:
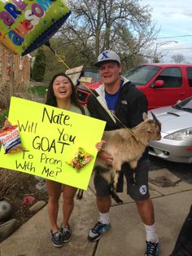
M32 77L37 82L42 82L46 71L46 54L43 48L38 48L33 64Z

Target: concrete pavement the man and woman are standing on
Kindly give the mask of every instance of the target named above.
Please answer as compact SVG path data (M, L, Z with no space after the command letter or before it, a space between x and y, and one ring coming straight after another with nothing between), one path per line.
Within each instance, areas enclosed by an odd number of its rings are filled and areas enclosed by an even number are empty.
M177 240L178 232L190 210L192 184L185 183L168 170L150 172L151 198L155 205L156 228L160 254L168 256ZM62 248L50 242L50 223L44 207L0 244L1 256L142 256L145 251L145 230L129 196L120 194L124 205L111 206L111 230L98 242L86 237L98 218L93 179L82 201L76 201L70 224L72 240ZM61 205L60 201L60 205ZM61 210L59 223L61 223Z

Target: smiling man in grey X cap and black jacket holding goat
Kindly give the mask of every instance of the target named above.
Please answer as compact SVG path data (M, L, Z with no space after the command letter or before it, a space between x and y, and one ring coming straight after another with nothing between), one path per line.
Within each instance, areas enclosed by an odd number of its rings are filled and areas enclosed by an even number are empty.
M103 51L98 56L99 74L103 85L96 90L98 97L89 96L87 107L92 117L107 121L106 130L115 130L124 126L133 128L142 122L142 113L147 112L147 100L142 91L137 90L129 81L120 77L120 57L114 51ZM106 111L109 109L110 111ZM114 117L111 113L118 117ZM112 161L107 152L100 151L99 157ZM146 227L146 256L159 255L159 241L155 232L154 208L148 191L148 152L144 152L138 161L136 184L129 179L133 174L129 164L122 166L117 192L123 191L123 175L127 180L127 192L137 205L137 211ZM97 192L99 219L89 231L88 240L97 241L104 232L110 229L109 211L111 207L111 191L106 180L97 172L94 175L94 186Z

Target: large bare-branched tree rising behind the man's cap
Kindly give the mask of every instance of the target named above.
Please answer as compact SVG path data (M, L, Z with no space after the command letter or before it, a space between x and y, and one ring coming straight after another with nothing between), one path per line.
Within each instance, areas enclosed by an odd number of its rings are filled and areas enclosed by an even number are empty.
M72 15L58 33L63 39L63 50L71 47L70 61L76 57L81 64L91 67L103 50L111 49L124 57L125 68L143 52L155 38L151 9L140 6L138 0L68 0ZM74 65L72 65L74 66Z

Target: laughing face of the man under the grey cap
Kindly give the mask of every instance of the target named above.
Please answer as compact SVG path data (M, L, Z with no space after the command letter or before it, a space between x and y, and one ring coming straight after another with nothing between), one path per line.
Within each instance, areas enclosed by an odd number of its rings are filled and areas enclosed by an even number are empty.
M99 75L106 86L113 86L120 80L121 67L116 61L107 61L99 66Z

